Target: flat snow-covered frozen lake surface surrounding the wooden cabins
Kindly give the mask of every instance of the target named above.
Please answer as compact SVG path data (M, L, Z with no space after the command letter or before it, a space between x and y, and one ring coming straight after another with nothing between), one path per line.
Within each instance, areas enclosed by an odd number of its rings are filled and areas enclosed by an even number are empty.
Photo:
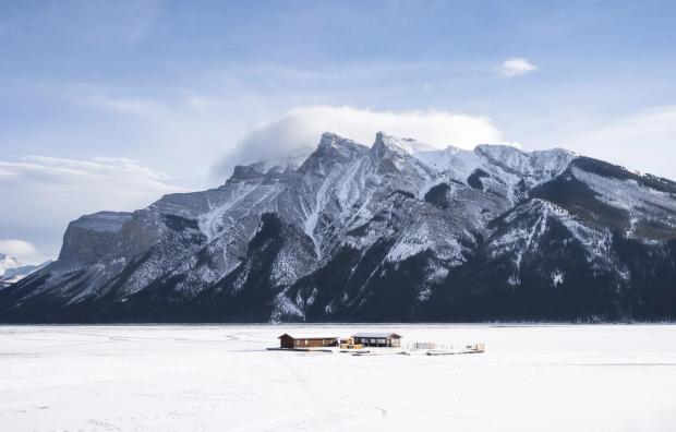
M483 355L266 351L391 329ZM2 431L674 431L676 326L0 326Z

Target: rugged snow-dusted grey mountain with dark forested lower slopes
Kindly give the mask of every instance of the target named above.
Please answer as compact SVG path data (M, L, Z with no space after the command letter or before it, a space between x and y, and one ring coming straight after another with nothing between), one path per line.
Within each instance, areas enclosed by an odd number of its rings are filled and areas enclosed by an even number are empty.
M304 160L72 221L4 322L663 320L676 183L563 149L331 133Z

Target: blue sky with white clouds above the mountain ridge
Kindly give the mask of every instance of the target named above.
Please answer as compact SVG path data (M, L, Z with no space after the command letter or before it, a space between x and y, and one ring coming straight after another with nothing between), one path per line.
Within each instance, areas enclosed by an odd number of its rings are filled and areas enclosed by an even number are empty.
M0 1L0 252L323 131L676 179L674 1Z

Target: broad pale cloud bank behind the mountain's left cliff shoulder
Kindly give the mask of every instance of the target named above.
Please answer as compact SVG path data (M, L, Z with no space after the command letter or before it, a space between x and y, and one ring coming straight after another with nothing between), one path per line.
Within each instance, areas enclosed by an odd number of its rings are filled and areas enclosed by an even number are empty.
M70 220L102 209L142 208L178 191L161 172L132 159L0 160L0 238L25 239L53 257Z

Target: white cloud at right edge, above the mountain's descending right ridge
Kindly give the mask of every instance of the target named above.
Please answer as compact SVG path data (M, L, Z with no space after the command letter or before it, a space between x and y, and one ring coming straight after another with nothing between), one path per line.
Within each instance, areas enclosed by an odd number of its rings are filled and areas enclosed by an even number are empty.
M581 132L563 146L583 155L676 180L676 106L653 107Z

